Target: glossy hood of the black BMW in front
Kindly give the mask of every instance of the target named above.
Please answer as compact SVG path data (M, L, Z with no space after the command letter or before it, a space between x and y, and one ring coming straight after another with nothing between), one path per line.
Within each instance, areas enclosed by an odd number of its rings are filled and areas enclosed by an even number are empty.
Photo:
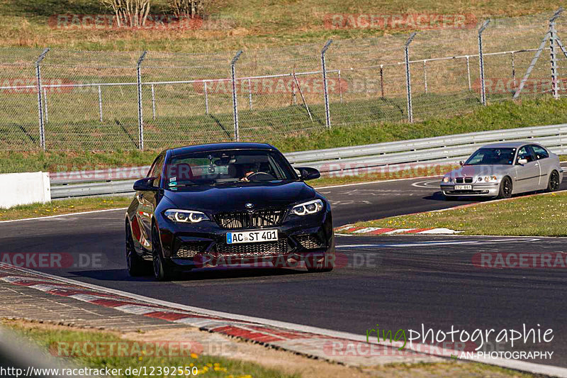
M186 187L166 190L164 195L179 209L200 211L244 210L283 207L315 198L315 189L303 182L262 182L210 187Z

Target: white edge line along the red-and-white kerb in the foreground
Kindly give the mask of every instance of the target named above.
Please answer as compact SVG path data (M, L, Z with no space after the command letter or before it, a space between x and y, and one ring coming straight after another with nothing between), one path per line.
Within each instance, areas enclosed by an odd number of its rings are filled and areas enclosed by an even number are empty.
M326 336L330 336L330 337L333 337L333 338L344 338L344 339L347 339L347 340L353 340L353 341L359 341L359 342L366 343L366 336L365 335L357 335L357 334L354 334L354 333L347 333L347 332L341 332L341 331L336 331L336 330L330 330L330 329L327 329L327 328L303 326L301 324L288 323L288 322L283 322L283 321L274 321L274 320L270 320L270 319L266 319L266 318L257 318L257 317L254 317L254 316L245 316L245 315L238 315L238 314L235 314L235 313L226 313L226 312L223 312L223 311L213 311L213 310L208 310L206 308L199 308L199 307L194 307L194 306L186 306L184 304L176 304L174 302L162 301L160 299L150 298L148 296L142 296L142 295L138 295L138 294L128 293L127 291L109 289L109 288L106 288L106 287L101 287L99 285L87 284L87 283L84 283L84 282L76 281L74 279L58 277L58 276L43 273L43 272L36 272L35 270L32 270L32 269L26 269L26 268L22 268L22 267L13 267L13 269L19 269L23 272L27 272L27 273L35 274L35 275L40 275L42 277L48 277L50 279L55 279L56 281L64 282L66 284L72 284L72 285L87 287L89 289L102 291L102 292L108 293L108 294L116 294L118 296L124 296L126 298L136 299L137 301L145 301L145 302L148 302L150 304L157 304L157 305L160 305L160 306L176 308L176 309L184 310L184 311L193 311L193 312L202 313L202 314L205 314L205 315L208 315L208 316L228 318L228 319L234 319L234 320L238 320L238 321L247 321L247 322L252 322L252 323L260 323L260 324L264 324L264 325L267 325L267 326L284 328L284 329L288 329L288 330L295 330L295 331L300 331L300 332L305 332L305 333L315 333L315 334L318 334L318 335L326 335ZM378 343L378 344L382 344L382 343ZM402 346L402 343L393 342L393 343L389 343L389 344L386 343L386 345L390 345L390 346L393 345L393 346L399 348L399 347ZM408 346L406 345L405 348L408 348ZM419 346L417 346L417 347L412 346L408 349L414 350L415 352L426 354L426 355L436 355L438 357L447 358L447 356L436 354L434 352L423 352L422 350L419 350L418 348L419 348ZM476 358L474 358L474 357L472 357L472 358L463 357L463 358L461 358L461 360L468 360L468 361L473 361L473 362L481 362L481 363L484 363L484 364L487 364L487 365L496 365L496 366L500 366L500 367L507 367L509 369L516 369L516 370L520 370L522 372L531 372L531 373L534 373L534 374L546 374L546 375L549 375L549 376L552 376L552 377L566 377L567 378L567 369L563 368L563 367L534 364L533 362L524 362L524 361L518 361L518 360L505 360L503 358L493 358L493 359L489 359L489 360L483 360L483 359L478 358L478 357L476 357Z

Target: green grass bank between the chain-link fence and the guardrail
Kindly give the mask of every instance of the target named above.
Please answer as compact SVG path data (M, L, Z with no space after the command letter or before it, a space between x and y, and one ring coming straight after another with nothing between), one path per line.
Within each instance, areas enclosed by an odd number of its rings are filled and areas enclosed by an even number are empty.
M335 126L331 130L318 126L315 130L305 130L299 133L292 133L291 135L272 132L266 138L251 138L251 140L273 143L283 152L291 152L427 138L473 131L543 126L565 122L567 119L567 99L537 99L522 102L503 101L486 107L476 106L474 111L463 116L453 116L451 118L439 116L428 121L412 124L371 122L364 116L361 116L360 113L357 114L356 111L353 111L352 123L349 123L347 126ZM305 115L302 116L306 118ZM297 119L299 118L300 116ZM246 118L243 122L246 124ZM225 127L230 127L228 121L225 121ZM205 128L206 125L203 126L203 129ZM211 132L210 130L209 133ZM134 138L133 131L130 131L130 137ZM120 130L112 135L116 136L119 132ZM201 133L203 132L201 131ZM120 148L120 145L115 145L113 146L114 148L110 148L107 151L89 148L87 143L85 143L82 150L74 152L2 151L0 152L0 172L68 172L71 170L103 169L106 167L150 165L155 155L157 155L157 151L159 151L159 149L151 148L152 140L162 140L162 144L170 147L190 144L192 141L187 135L184 137L184 135L174 133L173 131L170 133L167 130L159 131L157 128L152 128L152 123L150 123L146 130L146 135L150 139L148 142L150 145L148 147L149 150L126 150L125 148L128 148L127 144L132 143L132 141L130 137L125 136L125 133L122 133L122 135L123 143L125 143L122 145L122 148ZM171 138L168 135L174 135L175 138L167 140L166 137ZM49 136L50 134L48 133L48 138ZM65 135L51 134L51 137L55 138L55 140L64 140ZM2 138L4 137L0 135L0 143L2 143ZM115 139L120 140L119 138L113 138L113 140ZM101 140L111 140L111 135L103 135ZM219 138L219 140L222 140L222 138ZM198 143L198 141L195 142Z

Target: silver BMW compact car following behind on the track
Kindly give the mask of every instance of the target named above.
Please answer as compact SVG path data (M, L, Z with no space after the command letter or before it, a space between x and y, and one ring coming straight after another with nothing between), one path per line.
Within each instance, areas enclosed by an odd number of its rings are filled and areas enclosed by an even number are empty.
M563 180L559 157L537 143L485 145L461 165L444 175L444 196L510 198L526 191L556 191Z

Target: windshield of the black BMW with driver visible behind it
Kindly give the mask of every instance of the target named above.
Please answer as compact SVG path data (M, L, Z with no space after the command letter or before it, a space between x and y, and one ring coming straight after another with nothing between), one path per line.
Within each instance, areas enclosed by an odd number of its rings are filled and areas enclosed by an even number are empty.
M268 150L224 150L172 157L166 188L298 179L281 154Z

